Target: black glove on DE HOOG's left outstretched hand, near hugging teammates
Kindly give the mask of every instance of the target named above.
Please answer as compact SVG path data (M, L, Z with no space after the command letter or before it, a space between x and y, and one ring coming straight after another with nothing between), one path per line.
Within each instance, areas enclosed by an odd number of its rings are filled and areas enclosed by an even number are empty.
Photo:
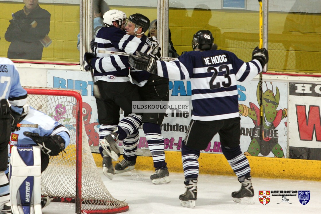
M137 70L145 70L155 74L157 71L157 63L154 57L145 53L136 51L136 56L128 56L129 64Z

